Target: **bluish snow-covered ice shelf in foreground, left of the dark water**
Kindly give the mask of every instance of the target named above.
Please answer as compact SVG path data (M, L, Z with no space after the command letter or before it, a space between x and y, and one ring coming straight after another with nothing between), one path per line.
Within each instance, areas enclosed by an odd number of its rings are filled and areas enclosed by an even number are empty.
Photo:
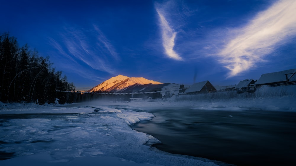
M73 105L74 106L74 105ZM215 165L171 155L147 144L160 143L130 125L151 120L151 113L130 108L37 107L3 109L0 122L2 152L15 158L0 165ZM7 115L9 114L9 115ZM205 159L206 160L206 159ZM36 162L37 161L37 162ZM99 165L101 165L99 164ZM103 165L104 165L103 164Z

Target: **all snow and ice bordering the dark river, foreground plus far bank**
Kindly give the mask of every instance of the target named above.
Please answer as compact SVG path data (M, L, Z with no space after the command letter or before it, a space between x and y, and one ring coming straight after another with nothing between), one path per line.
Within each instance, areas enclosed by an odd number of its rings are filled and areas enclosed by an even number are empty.
M196 157L173 155L151 148L145 143L151 136L134 131L130 125L147 121L153 115L136 110L149 108L190 107L192 110L273 110L295 112L295 97L270 97L244 100L182 101L172 99L149 100L141 102L85 102L72 105L39 106L35 104L1 103L0 115L17 114L71 114L73 117L44 119L43 117L11 119L1 122L1 141L17 142L17 157L0 161L1 165L223 165L210 160L202 161ZM97 109L99 108L99 109ZM99 114L93 114L95 109ZM67 128L67 125L73 125ZM44 132L44 128L60 125L61 130ZM64 126L63 126L64 125ZM18 127L20 126L20 127ZM65 128L63 128L65 127ZM91 129L91 130L90 130ZM59 131L59 132L57 132ZM20 132L23 132L20 134ZM64 135L62 133L65 133ZM56 136L61 134L62 136ZM81 138L82 136L82 138ZM46 142L32 143L34 140L55 140L47 146ZM73 143L74 141L74 143ZM63 142L60 144L59 142ZM65 143L66 142L66 143ZM64 145L66 144L66 145ZM9 144L8 144L9 145ZM23 147L20 147L22 145ZM38 147L47 146L48 149ZM13 152L13 147L1 144L1 151ZM33 146L32 149L30 147ZM59 148L57 148L59 147ZM23 148L23 149L22 149ZM28 152L29 151L29 152Z

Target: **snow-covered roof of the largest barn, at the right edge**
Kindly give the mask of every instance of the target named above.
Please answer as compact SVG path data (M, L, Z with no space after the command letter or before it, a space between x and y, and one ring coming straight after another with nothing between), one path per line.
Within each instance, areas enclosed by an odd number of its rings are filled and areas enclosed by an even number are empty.
M289 69L289 70L278 71L278 72L274 72L274 73L262 74L261 77L259 78L259 80L257 82L255 82L254 85L274 83L274 82L283 82L283 81L287 80L285 74L289 74L288 79L290 79L292 77L292 74L290 74L290 73L295 73L295 72L296 72L296 69ZM294 75L294 77L292 77L290 79L290 81L295 81L295 78L296 78L296 75Z

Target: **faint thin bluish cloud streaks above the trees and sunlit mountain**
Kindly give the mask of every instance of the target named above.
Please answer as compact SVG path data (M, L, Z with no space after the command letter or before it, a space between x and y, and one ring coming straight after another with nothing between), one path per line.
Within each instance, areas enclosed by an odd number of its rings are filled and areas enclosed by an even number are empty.
M72 69L82 77L100 79L94 73L103 71L115 74L113 63L118 61L118 54L109 40L94 25L94 29L84 30L77 27L65 27L59 34L60 38L49 38L49 44L55 48L62 68ZM91 76L91 77L90 77Z

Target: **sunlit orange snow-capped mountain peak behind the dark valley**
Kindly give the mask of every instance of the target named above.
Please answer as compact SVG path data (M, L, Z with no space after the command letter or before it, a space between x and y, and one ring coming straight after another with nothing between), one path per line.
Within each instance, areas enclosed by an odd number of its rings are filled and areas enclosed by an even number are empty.
M123 75L118 75L89 89L87 92L98 92L98 91L122 92L125 89L131 89L132 87L137 87L144 84L163 84L163 83L153 81L153 80L148 80L143 77L127 77Z

